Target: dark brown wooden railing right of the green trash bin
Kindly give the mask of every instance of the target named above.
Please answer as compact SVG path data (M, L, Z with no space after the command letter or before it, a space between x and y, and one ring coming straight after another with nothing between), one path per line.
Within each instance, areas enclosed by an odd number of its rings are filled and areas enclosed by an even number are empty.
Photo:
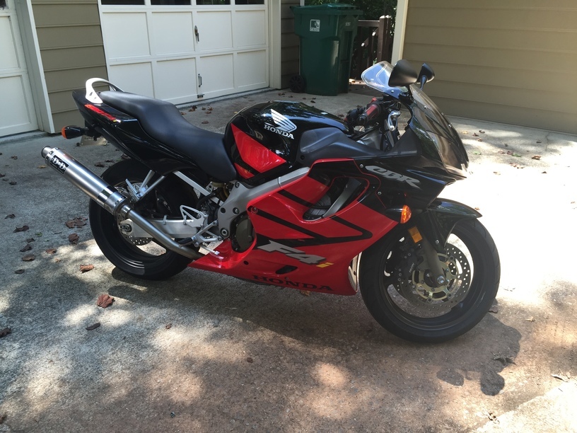
M361 73L375 62L390 62L392 53L391 16L377 20L359 20L351 62L351 78L360 79Z

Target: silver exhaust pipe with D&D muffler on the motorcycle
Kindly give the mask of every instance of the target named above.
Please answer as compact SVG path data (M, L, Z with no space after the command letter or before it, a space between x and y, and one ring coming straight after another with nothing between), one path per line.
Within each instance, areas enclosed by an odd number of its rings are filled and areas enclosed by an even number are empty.
M66 180L100 204L107 212L110 212L115 217L121 217L123 220L132 219L134 224L149 233L163 247L193 260L203 257L196 250L173 241L172 238L146 221L141 214L134 210L127 197L124 197L115 187L105 183L104 180L69 156L69 154L66 154L66 152L57 147L46 146L42 149L42 157L48 166L62 174Z

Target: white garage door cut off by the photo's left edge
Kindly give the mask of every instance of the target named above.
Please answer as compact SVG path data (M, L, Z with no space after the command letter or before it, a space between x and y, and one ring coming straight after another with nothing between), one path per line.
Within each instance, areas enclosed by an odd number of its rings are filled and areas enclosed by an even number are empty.
M13 0L0 1L0 137L37 129Z

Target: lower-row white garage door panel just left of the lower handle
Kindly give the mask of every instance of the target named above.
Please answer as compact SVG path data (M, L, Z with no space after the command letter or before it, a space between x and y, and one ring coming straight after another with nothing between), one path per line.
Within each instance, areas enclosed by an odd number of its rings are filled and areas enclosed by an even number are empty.
M186 103L197 96L195 59L167 60L156 63L154 97L173 104Z

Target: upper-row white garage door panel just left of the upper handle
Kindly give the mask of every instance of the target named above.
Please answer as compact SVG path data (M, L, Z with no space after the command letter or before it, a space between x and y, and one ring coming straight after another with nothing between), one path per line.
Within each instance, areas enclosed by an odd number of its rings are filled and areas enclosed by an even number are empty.
M194 52L194 31L190 12L152 13L153 47L157 55ZM170 29L170 31L167 31Z

